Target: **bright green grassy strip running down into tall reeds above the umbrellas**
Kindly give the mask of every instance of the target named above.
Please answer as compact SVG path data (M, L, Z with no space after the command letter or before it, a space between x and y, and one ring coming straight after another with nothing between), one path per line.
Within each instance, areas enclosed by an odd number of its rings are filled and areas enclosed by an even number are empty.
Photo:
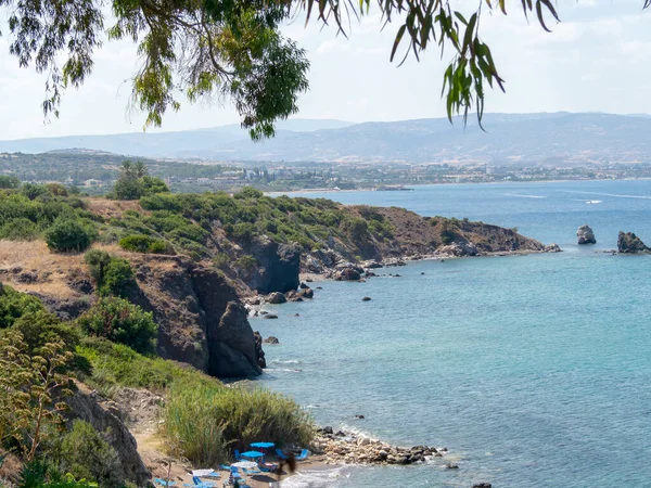
M255 441L307 446L314 439L311 416L284 395L227 387L191 367L101 338L84 339L77 352L92 367L82 380L104 396L124 386L164 394L162 435L171 454L195 465L215 466Z

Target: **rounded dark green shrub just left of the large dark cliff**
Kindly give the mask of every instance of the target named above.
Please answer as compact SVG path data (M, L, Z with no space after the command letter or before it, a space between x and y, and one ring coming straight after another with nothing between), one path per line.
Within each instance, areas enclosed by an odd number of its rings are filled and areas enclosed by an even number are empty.
M138 352L155 350L158 326L152 313L124 298L101 298L77 323L89 335L125 344Z

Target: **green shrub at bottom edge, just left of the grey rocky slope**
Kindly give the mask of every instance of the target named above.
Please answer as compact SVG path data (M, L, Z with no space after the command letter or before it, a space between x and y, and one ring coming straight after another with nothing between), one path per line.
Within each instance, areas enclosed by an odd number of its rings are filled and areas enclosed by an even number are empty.
M124 485L116 450L88 422L76 421L61 444L61 468L76 478L92 479L101 488Z

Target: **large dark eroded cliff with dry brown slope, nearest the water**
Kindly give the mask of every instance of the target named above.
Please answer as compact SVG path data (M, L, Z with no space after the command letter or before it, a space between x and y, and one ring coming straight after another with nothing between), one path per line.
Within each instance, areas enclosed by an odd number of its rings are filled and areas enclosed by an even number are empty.
M183 257L131 259L132 301L159 325L158 354L217 377L261 373L253 330L238 292L222 273Z

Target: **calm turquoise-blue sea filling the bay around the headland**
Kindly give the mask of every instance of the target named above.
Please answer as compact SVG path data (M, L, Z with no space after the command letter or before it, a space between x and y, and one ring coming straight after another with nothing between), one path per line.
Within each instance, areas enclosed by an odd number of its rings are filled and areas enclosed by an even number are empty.
M312 300L269 306L278 320L252 319L280 341L265 346L259 383L320 425L448 449L422 465L308 471L282 486L651 487L651 256L610 252L618 231L651 245L651 181L302 196L516 227L563 252L315 282ZM577 245L584 223L597 244Z

